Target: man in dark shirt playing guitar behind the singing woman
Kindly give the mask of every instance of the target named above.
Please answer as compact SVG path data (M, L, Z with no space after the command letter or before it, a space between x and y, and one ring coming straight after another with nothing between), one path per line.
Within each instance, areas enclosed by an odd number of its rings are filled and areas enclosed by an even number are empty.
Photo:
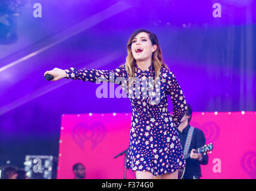
M178 127L179 138L181 140L182 148L185 148L185 142L187 141L188 134L192 133L190 140L190 147L187 148L187 153L190 153L190 157L186 159L185 173L182 179L200 179L202 177L200 165L208 164L208 155L203 155L202 153L194 153L196 149L205 145L205 134L199 128L194 128L190 131L190 120L192 116L192 109L189 104L187 104L187 110L183 118L181 119L181 124Z

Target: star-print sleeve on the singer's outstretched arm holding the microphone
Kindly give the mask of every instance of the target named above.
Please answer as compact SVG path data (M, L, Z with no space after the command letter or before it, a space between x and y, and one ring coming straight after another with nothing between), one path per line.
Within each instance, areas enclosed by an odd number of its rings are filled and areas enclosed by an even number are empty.
M98 69L81 69L77 70L74 67L65 69L67 74L66 79L81 79L90 82L112 82L120 85L125 79L126 68L125 64L112 70Z

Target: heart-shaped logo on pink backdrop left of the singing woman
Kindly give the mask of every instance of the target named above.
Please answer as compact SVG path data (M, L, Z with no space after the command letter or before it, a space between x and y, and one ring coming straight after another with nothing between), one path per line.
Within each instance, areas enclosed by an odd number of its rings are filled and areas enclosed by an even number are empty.
M92 149L94 149L103 140L105 135L105 125L100 123L92 125L80 123L75 125L72 130L72 138L82 150L84 150L84 143L86 141L91 141Z

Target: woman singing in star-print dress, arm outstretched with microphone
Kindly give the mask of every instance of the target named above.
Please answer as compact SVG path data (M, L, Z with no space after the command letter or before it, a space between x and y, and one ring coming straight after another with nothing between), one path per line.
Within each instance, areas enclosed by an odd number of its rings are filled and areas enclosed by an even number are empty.
M74 68L47 71L62 78L96 82L99 79L121 85L132 104L132 123L126 167L136 178L178 178L185 167L177 127L187 104L173 73L164 64L159 41L148 30L132 33L127 44L126 63L114 70ZM170 96L173 112L167 110Z

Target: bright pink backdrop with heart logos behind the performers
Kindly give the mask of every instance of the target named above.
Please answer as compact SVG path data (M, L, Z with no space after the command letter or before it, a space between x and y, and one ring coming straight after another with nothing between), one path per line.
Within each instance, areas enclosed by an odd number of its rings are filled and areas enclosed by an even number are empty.
M81 162L86 178L123 178L124 155L130 134L130 113L63 115L57 178L73 178ZM202 178L256 178L256 112L193 113L191 125L213 143ZM127 170L127 178L135 173Z

